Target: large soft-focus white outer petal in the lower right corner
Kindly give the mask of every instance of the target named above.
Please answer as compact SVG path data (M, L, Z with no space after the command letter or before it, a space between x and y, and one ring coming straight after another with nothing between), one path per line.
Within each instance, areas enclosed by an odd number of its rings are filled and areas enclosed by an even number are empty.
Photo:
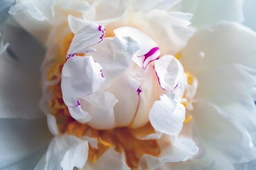
M232 117L225 116L218 106L200 99L194 104L192 115L205 149L204 157L196 162L213 164L213 170L234 170L236 163L255 159L256 149L247 130Z

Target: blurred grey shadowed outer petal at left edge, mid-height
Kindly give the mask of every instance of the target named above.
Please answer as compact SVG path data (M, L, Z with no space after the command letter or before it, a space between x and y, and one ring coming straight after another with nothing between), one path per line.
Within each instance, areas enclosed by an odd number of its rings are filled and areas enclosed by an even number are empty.
M3 40L9 46L0 56L0 117L43 116L38 108L43 47L27 32L11 26L4 30Z

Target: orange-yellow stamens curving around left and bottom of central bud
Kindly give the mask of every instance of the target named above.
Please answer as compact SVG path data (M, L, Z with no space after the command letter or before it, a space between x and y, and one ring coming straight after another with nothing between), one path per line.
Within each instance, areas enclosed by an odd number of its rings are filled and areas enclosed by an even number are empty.
M124 153L126 163L131 168L138 168L140 158L145 155L158 156L160 148L155 139L142 140L135 137L135 130L128 127L114 128L112 130L97 130L88 124L81 124L76 121L69 113L65 105L61 92L61 71L65 63L65 55L70 46L74 34L67 35L63 39L63 45L59 48L57 62L49 68L47 78L49 81L59 79L49 88L53 92L52 99L49 101L50 112L56 118L58 130L64 134L76 135L77 137L91 137L97 139L97 148L89 143L88 160L95 162L103 155L108 148L114 147L119 153ZM152 126L149 124L151 129ZM151 131L150 131L151 133Z

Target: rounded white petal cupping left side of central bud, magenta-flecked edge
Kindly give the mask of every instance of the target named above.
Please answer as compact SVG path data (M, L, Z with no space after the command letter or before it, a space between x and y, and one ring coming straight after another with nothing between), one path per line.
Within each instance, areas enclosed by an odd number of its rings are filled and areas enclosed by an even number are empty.
M101 66L91 56L71 57L64 64L61 76L63 100L75 119L90 120L80 107L78 98L96 92L104 81Z

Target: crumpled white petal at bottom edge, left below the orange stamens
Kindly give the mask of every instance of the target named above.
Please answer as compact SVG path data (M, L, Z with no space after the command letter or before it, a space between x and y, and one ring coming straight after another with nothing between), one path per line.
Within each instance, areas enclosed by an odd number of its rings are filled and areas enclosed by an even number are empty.
M82 168L88 157L88 141L72 135L54 137L46 154L45 170Z

